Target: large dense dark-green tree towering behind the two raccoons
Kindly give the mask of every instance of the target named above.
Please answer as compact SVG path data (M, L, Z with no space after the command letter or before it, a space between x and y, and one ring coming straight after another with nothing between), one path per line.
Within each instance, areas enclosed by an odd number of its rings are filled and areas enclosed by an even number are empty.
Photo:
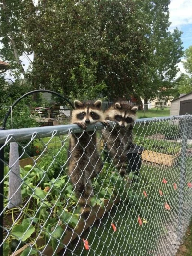
M110 98L138 90L149 42L134 0L3 0L2 7L0 56L23 73L21 56L33 52L24 76L34 89L74 93L71 71L84 56L97 63L94 85L105 83Z

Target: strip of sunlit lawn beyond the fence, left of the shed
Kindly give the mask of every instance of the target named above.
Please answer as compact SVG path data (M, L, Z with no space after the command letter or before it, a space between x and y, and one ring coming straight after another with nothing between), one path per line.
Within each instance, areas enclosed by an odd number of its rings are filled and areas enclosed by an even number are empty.
M144 110L138 110L137 112L138 118L160 116L170 116L170 108L164 108L163 110L161 110L160 108L151 108L147 112L144 112Z

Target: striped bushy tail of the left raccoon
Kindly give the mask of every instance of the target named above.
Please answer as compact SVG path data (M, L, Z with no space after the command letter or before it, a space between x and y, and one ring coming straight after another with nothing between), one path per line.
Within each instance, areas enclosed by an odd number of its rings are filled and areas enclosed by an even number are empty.
M90 183L91 183L91 180L88 180L88 183L84 186L83 191L77 192L77 196L79 197L80 214L84 220L87 220L90 215L90 212L91 212L90 199L94 195L93 188L90 185Z

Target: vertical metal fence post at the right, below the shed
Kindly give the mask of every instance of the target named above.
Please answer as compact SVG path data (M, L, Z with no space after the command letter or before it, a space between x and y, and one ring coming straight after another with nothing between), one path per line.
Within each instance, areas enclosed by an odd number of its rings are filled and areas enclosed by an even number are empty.
M178 242L183 237L182 214L184 206L184 187L186 180L186 157L187 157L187 116L180 120L180 129L182 134L181 154L180 154L180 186L178 198Z

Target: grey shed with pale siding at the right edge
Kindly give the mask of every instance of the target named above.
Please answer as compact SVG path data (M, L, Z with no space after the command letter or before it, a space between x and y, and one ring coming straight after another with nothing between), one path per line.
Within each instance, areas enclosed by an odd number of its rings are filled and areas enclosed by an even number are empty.
M192 92L180 94L179 98L171 101L171 116L185 115L186 113L192 115Z

